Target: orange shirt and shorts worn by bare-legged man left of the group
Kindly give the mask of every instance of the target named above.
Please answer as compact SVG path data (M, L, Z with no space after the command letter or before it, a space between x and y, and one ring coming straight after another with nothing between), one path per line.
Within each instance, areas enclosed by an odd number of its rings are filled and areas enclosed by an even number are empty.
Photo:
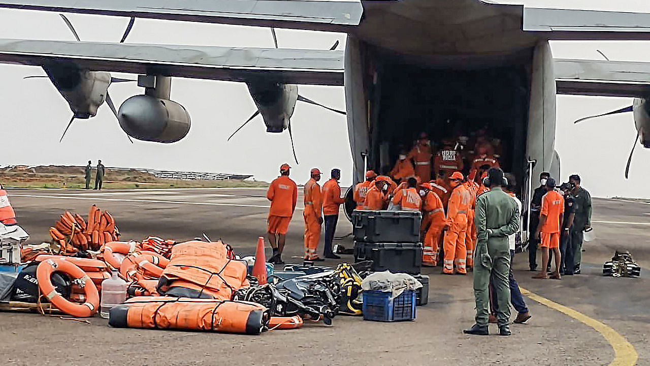
M278 176L268 186L266 198L271 201L266 231L271 234L287 234L289 221L296 210L296 201L298 201L296 183L289 176Z

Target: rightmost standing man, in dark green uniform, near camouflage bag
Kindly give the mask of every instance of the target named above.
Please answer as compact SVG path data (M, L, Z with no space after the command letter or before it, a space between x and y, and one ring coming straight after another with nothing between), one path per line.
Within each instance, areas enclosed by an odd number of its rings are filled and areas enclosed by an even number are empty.
M591 227L591 195L587 190L580 187L580 176L569 176L569 183L573 186L571 195L573 195L576 209L573 218L573 227L571 228L571 245L575 248L575 258L573 259L574 274L580 274L580 260L582 260L582 232Z

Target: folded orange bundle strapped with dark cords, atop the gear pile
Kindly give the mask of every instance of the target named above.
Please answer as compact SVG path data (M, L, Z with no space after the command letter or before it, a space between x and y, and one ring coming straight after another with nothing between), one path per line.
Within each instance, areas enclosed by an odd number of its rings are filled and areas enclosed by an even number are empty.
M158 292L167 296L230 300L233 292L248 287L246 264L231 259L223 242L176 244L162 271Z

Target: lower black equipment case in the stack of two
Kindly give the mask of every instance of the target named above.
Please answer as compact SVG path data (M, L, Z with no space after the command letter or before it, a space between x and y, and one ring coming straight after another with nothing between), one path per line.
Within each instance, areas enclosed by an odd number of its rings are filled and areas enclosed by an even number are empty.
M372 272L420 274L422 244L354 242L354 261L362 260L372 260Z

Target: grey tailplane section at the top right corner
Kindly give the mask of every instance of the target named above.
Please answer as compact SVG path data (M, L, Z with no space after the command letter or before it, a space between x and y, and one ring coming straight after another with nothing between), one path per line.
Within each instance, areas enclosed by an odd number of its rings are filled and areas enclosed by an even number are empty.
M650 40L650 14L524 7L522 29L555 40Z

